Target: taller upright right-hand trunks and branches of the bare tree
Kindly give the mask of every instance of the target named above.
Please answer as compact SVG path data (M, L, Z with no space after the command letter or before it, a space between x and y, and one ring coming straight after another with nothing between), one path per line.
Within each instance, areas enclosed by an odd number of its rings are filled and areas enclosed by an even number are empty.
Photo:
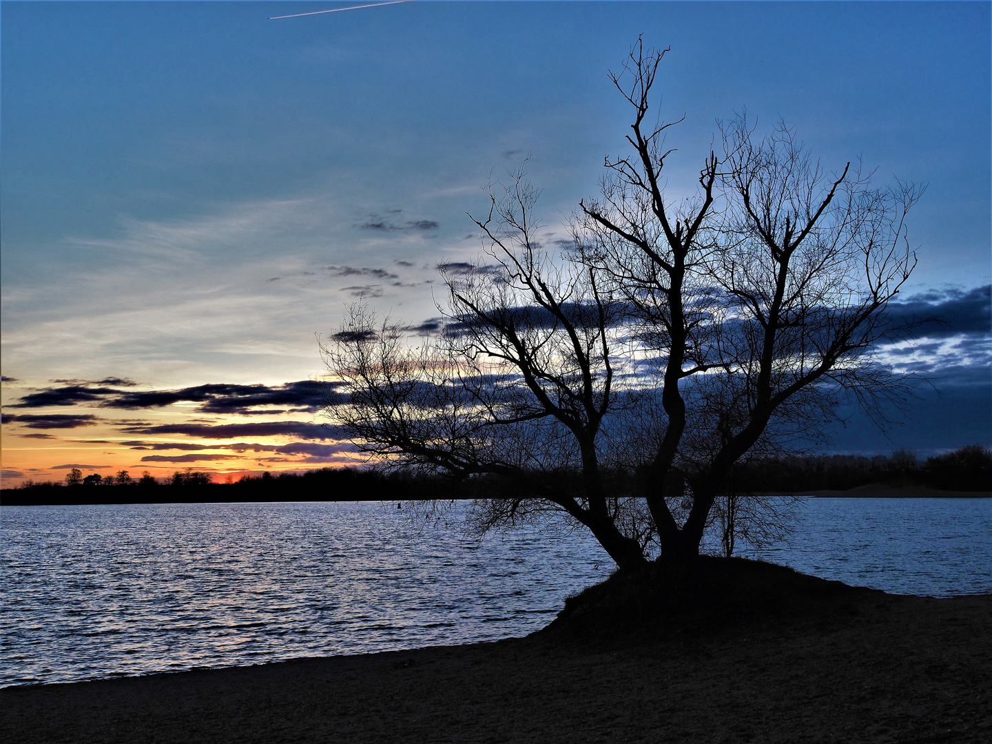
M900 380L876 344L901 330L886 307L915 254L905 217L922 188L873 189L869 176L827 175L780 126L755 142L744 116L721 127L699 191L673 203L663 169L671 124L646 127L666 51L631 51L611 79L635 109L635 154L606 160L601 197L582 202L583 261L611 280L655 353L663 421L642 492L663 555L698 552L733 464L756 447L816 436L853 395L876 417ZM666 479L690 474L676 519Z

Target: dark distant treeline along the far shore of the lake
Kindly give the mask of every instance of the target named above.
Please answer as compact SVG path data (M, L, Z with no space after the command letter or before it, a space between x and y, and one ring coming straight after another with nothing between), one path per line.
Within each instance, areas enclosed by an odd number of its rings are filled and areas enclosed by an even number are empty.
M563 476L562 477L566 477ZM608 478L622 491L633 488L630 475ZM691 476L686 478L691 483ZM560 481L559 481L560 482ZM736 468L737 493L846 491L870 484L924 485L944 491L992 491L992 452L978 444L925 461L907 450L887 457L816 455L763 459ZM577 483L576 483L577 486ZM208 473L177 471L157 479L145 472L132 478L126 470L114 476L83 477L73 468L62 482L25 481L3 489L0 503L141 504L216 501L412 501L415 499L512 498L513 483L501 479L454 481L441 476L384 474L357 468L322 468L304 473L263 473L232 483L212 483Z

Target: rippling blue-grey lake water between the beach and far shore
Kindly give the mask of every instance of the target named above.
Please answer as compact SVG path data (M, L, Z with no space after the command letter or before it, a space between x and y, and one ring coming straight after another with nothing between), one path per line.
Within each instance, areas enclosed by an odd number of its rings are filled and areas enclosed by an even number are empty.
M522 636L612 563L585 533L467 539L395 503L0 507L0 685ZM807 499L765 558L850 584L992 591L992 499Z

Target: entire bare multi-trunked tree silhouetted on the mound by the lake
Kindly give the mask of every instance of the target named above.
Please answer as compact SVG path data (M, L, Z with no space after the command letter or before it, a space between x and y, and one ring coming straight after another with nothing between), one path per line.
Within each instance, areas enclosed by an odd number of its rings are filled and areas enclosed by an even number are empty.
M571 248L536 241L520 172L473 218L489 262L441 267L443 333L410 346L359 306L321 347L343 383L328 412L380 465L510 479L519 496L487 502L482 528L557 512L621 566L650 543L697 555L719 514L731 553L736 462L822 436L847 397L876 416L899 398L873 352L905 330L886 307L915 264L904 220L922 192L873 189L850 164L827 175L792 130L755 141L739 116L697 192L669 199L672 124L647 123L664 56L638 42L611 73L633 154L606 160Z

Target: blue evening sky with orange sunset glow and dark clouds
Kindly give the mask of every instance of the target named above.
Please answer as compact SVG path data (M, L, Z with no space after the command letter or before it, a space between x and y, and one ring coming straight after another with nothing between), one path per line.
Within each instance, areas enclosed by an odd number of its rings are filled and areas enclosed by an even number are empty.
M466 212L530 156L549 233L625 154L607 70L669 47L672 195L717 120L927 184L890 349L929 382L829 451L992 444L988 3L0 3L3 485L70 467L216 480L354 461L315 334L359 298L438 315ZM767 131L767 130L763 130ZM918 315L919 316L919 315Z

